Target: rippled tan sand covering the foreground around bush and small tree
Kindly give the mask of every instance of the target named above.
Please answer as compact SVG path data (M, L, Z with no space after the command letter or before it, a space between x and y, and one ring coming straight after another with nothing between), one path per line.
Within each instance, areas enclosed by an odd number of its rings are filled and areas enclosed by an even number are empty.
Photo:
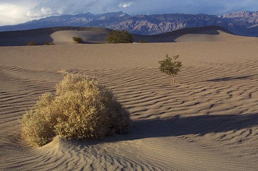
M180 43L0 47L0 170L257 171L258 38L218 32ZM183 61L176 85L158 70L166 53ZM28 145L18 120L55 91L62 69L107 85L131 114L130 133Z

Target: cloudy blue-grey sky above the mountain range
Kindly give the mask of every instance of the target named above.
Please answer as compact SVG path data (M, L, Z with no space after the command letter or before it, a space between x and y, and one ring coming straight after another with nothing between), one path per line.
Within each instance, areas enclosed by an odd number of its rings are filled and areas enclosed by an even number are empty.
M136 14L214 14L258 11L258 0L0 0L0 26L52 15L123 11Z

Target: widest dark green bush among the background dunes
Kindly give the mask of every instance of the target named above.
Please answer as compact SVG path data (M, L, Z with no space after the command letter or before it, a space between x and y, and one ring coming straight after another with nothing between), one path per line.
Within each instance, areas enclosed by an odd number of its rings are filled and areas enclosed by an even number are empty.
M113 30L108 33L107 43L133 43L133 38L128 31Z

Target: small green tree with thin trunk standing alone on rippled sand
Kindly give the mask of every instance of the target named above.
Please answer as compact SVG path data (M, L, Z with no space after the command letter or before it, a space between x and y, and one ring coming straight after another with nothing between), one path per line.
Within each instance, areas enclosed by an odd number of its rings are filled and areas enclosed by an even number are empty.
M173 78L173 84L175 84L175 76L178 74L180 68L182 67L182 61L177 60L178 58L179 55L173 56L173 58L171 58L168 56L168 54L166 54L166 59L159 61L160 72L171 75Z

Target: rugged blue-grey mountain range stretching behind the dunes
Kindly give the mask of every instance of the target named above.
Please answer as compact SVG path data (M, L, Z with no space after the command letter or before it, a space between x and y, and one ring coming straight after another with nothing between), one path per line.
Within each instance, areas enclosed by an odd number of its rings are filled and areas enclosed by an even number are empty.
M127 30L132 34L157 35L174 30L221 26L236 35L258 37L258 11L232 12L225 15L155 14L131 16L122 11L104 14L50 16L18 25L0 26L0 31L30 30L57 26L102 27Z

